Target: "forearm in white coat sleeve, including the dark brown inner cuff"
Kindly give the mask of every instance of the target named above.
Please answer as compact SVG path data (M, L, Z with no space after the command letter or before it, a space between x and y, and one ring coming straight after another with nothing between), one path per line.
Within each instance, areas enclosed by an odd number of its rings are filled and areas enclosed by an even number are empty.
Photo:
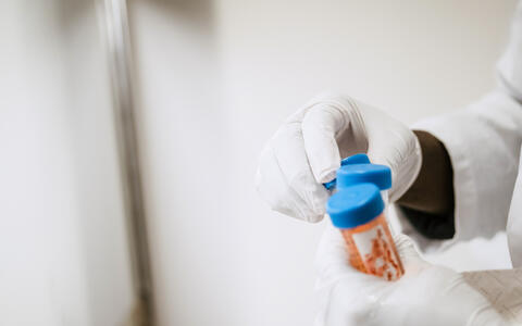
M409 223L432 239L505 230L522 143L521 104L498 90L413 128L424 162L398 201Z

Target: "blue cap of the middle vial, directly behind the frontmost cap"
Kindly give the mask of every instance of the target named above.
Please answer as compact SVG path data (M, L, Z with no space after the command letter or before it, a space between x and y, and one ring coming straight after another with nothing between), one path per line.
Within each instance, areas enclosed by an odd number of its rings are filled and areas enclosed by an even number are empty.
M391 188L391 170L378 164L351 164L337 170L336 187L338 189L362 183L374 184L381 190L389 189Z

